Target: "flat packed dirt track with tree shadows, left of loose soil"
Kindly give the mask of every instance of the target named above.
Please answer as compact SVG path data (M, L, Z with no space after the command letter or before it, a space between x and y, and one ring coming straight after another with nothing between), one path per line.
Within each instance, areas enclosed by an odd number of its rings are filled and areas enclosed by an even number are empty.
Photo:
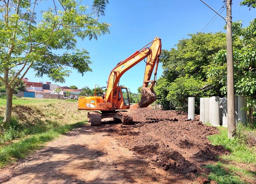
M186 183L133 155L109 125L77 128L1 170L0 183Z

